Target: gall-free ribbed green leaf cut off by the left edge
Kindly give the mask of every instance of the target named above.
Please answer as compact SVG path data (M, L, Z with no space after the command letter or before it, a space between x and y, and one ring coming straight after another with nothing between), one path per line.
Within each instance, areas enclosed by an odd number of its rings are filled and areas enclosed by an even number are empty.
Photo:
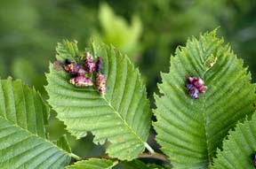
M35 89L0 81L0 168L64 168L69 152L47 140L49 108ZM70 148L69 148L70 149Z

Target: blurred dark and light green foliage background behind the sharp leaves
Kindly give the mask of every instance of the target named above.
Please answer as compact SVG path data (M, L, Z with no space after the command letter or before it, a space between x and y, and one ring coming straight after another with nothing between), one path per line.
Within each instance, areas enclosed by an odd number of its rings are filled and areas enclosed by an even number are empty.
M44 98L44 73L55 58L62 39L77 40L80 50L92 39L114 44L139 66L152 95L160 71L167 72L169 58L188 36L219 27L256 80L255 0L1 0L0 75L20 78ZM50 138L65 134L63 124L52 119ZM152 141L154 134L150 137ZM99 155L104 146L92 143L92 134L76 141L68 135L76 154Z

